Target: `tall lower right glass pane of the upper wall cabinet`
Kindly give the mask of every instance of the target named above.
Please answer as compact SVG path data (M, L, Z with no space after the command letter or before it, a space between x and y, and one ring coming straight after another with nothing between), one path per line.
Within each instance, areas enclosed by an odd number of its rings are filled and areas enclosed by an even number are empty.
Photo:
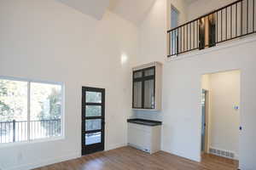
M144 108L154 109L154 79L144 82Z

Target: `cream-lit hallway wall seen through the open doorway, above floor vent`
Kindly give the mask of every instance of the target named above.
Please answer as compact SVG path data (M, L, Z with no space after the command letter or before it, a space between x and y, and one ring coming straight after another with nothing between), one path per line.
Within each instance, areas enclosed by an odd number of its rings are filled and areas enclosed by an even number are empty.
M232 151L238 159L240 111L240 71L225 71L204 75L202 86L210 95L210 148ZM208 78L205 78L208 77Z

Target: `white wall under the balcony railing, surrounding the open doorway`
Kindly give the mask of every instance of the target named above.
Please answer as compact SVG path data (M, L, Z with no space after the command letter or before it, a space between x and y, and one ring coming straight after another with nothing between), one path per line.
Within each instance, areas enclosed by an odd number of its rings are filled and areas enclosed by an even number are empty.
M157 0L140 27L140 54L137 64L158 60L163 69L163 109L160 112L141 113L141 117L163 121L162 150L200 161L201 150L201 75L217 71L241 69L241 126L240 167L256 169L256 105L255 37L225 48L209 48L200 53L179 55L166 59L166 1ZM245 40L240 40L245 41ZM192 55L193 54L193 55ZM138 115L139 113L137 113Z

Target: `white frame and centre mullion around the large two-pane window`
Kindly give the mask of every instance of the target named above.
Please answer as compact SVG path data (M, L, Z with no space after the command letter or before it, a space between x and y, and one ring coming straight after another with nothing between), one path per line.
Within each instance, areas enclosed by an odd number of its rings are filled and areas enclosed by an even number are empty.
M27 140L20 142L12 142L12 143L0 143L0 148L15 146L15 145L23 145L23 144L36 144L41 142L50 142L55 140L65 139L65 85L63 82L49 82L49 81L38 81L27 78L17 78L17 77L4 77L0 76L0 79L3 80L11 80L11 81L20 81L27 82L27 122L30 121L30 97L31 97L31 83L38 82L44 84L52 84L52 85L60 85L61 86L61 136L49 137L44 139L30 139L30 123L27 123Z

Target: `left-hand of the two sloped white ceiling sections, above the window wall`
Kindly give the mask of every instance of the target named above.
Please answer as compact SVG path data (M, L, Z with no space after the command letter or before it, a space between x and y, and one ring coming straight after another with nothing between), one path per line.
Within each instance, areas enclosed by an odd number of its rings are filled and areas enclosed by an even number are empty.
M88 14L97 20L101 20L103 14L109 6L109 0L56 0Z

